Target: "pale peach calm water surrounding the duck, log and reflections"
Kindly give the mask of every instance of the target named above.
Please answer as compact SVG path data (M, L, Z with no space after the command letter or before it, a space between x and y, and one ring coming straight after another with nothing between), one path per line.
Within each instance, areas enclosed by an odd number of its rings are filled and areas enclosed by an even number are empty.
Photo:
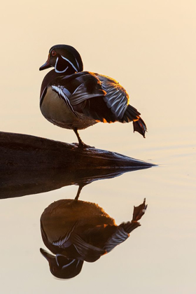
M80 132L83 141L158 166L83 188L80 200L98 204L117 225L131 221L144 198L148 209L129 239L66 281L52 276L39 251L40 218L52 202L76 197L78 187L1 200L2 293L195 293L195 2L100 1L95 9L60 1L55 25L56 7L20 2L22 10L3 4L1 131L76 141L38 107L46 73L38 67L52 45L67 43L85 70L119 80L148 127L143 139L131 124L100 123Z

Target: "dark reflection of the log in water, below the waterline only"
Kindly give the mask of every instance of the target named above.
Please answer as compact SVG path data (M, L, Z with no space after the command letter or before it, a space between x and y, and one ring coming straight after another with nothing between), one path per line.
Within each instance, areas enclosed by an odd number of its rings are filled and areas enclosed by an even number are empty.
M0 199L44 193L70 185L85 186L92 181L112 179L138 169L144 168L3 170L0 176Z

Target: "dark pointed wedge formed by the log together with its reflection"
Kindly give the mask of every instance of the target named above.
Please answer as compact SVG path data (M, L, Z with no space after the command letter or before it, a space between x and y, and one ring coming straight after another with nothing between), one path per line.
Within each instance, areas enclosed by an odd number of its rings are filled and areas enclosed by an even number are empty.
M149 167L153 164L110 151L0 132L1 199L83 185Z

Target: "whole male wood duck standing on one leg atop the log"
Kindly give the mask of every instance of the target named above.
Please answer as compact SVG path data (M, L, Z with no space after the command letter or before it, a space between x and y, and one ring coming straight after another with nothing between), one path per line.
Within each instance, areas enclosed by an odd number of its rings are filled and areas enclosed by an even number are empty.
M79 146L86 145L78 130L98 122L133 122L134 131L145 138L146 124L129 104L129 95L113 78L83 71L78 51L70 45L54 45L40 71L49 71L41 85L40 108L43 116L59 127L76 133Z

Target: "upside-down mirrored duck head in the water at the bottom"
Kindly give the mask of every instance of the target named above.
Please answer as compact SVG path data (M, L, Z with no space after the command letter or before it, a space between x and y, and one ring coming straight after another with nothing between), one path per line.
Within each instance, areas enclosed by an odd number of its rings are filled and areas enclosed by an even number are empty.
M71 279L80 274L83 260L68 259L64 255L52 255L40 248L41 254L48 260L50 272L59 279Z

